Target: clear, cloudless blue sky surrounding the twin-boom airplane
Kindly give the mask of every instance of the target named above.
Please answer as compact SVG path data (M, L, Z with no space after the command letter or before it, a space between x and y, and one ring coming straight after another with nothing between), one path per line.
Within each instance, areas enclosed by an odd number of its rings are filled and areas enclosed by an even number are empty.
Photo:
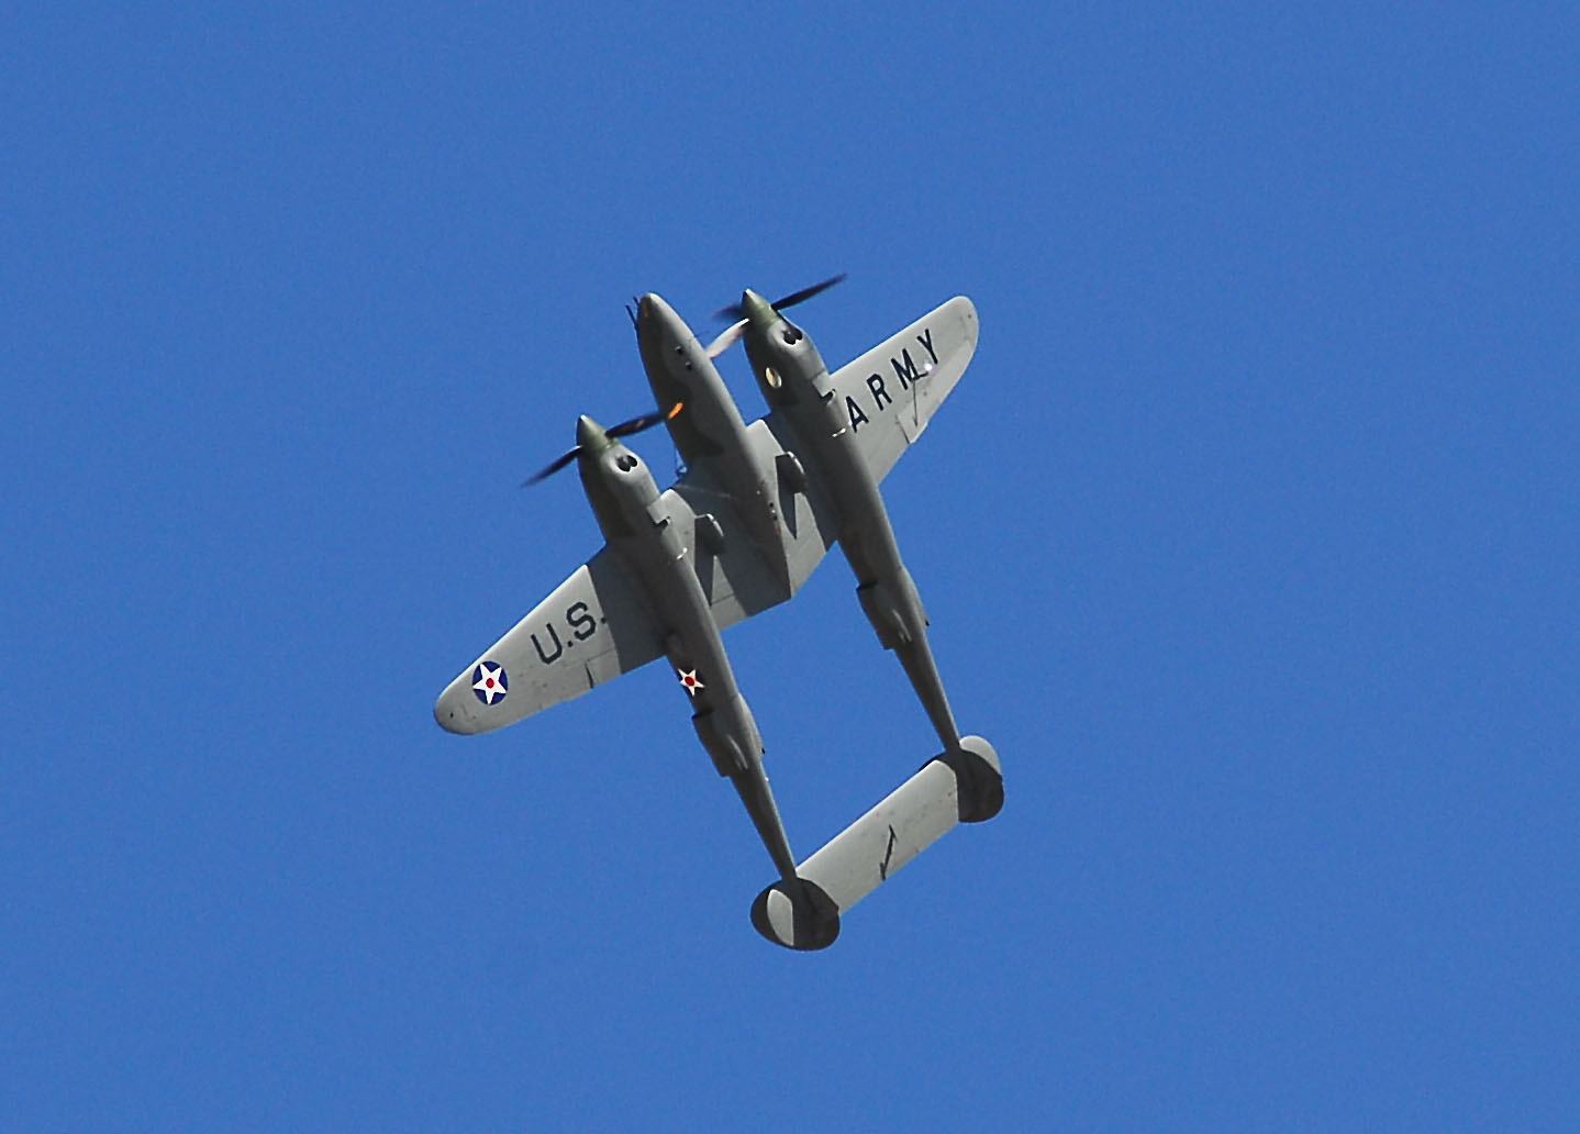
M1567 1128L1574 13L455 8L0 16L0 1125ZM430 711L621 303L834 272L981 316L885 493L1006 805L796 956L659 668ZM932 753L837 558L727 646L799 853Z

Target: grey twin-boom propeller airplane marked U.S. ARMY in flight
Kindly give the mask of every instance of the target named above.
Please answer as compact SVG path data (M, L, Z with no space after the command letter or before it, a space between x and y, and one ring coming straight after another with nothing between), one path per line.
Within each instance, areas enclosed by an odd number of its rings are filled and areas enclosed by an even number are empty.
M452 733L491 731L667 659L697 738L779 872L752 903L752 924L790 949L833 944L856 902L956 823L1003 805L997 753L954 722L878 491L965 371L976 310L957 295L830 374L784 310L841 280L774 303L747 289L719 313L733 322L708 346L662 297L637 300L630 316L657 409L608 430L583 415L575 447L526 482L574 461L605 543L465 668L433 711ZM769 407L750 425L714 365L736 341ZM662 493L623 441L660 423L686 469ZM943 750L798 864L720 632L793 597L836 543Z

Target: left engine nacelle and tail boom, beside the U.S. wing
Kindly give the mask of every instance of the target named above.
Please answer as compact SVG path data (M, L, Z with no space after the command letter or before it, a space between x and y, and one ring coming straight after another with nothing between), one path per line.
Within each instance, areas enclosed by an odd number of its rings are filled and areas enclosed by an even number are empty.
M730 777L739 793L774 867L793 880L795 854L763 771L762 734L735 684L719 627L659 486L648 466L591 417L578 422L577 444L581 447L577 471L588 502L608 545L662 621L670 665L700 679L687 687L697 734L719 774Z

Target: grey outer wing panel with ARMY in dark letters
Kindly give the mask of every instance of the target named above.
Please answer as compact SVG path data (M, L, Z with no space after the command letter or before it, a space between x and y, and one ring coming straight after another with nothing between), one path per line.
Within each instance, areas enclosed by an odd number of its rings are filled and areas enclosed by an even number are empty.
M956 295L830 376L878 482L921 436L976 352L976 308Z

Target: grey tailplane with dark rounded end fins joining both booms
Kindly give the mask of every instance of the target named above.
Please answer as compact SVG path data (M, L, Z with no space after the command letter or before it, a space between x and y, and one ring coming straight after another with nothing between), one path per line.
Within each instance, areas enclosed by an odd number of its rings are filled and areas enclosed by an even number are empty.
M798 886L777 881L752 905L757 932L790 949L822 949L839 916L888 881L956 823L980 823L1003 805L999 757L980 736L929 760L877 807L796 867Z

